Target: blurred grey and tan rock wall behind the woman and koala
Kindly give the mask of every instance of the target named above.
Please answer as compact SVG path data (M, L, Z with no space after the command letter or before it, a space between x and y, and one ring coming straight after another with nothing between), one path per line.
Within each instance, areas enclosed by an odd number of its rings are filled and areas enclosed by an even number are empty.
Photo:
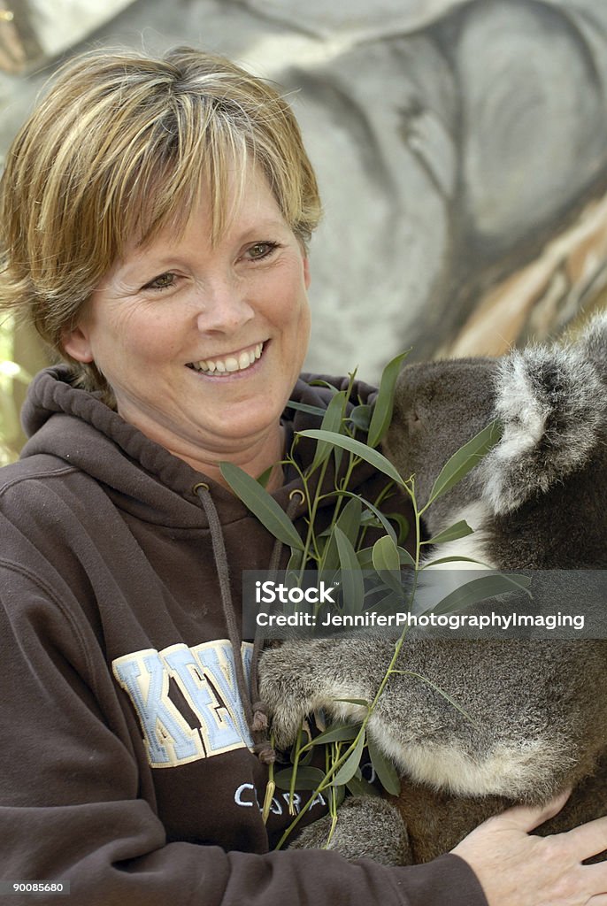
M607 0L0 0L0 155L73 53L178 43L300 120L325 207L309 369L375 381L409 346L496 355L604 306ZM0 344L11 458L47 357L12 324Z

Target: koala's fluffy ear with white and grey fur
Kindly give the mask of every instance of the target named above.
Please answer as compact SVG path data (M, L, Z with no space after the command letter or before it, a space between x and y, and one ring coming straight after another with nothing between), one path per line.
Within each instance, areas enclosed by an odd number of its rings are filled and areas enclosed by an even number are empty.
M511 352L496 375L504 433L479 469L494 513L515 510L583 467L607 426L607 317L567 346Z

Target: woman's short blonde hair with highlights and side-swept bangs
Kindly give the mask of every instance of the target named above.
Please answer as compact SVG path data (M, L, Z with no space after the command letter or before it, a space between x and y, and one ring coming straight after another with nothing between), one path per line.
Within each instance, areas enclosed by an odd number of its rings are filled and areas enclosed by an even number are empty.
M95 51L66 63L9 149L0 182L0 310L63 333L136 236L179 227L210 193L213 242L229 219L229 171L253 159L304 244L321 216L294 113L269 84L192 48L160 59ZM242 185L241 185L242 188ZM80 386L108 390L94 365Z

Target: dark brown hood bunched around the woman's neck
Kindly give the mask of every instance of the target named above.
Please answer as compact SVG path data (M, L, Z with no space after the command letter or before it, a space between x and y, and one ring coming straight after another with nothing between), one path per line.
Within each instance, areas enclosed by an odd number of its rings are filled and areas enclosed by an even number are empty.
M332 391L311 385L315 376L303 375L291 399L325 410ZM338 389L348 381L322 378ZM371 401L373 388L357 382L356 399ZM294 433L318 428L320 417L287 407L283 424L287 445ZM207 482L222 523L241 519L246 507L225 487L210 480L188 463L148 439L141 431L109 409L99 396L72 386L70 370L57 365L41 371L32 382L22 411L28 441L21 458L50 455L90 475L111 491L120 509L140 520L181 528L202 527L206 516L201 510L194 487ZM315 441L302 438L297 456L311 462ZM371 467L357 470L355 484L371 474ZM274 496L286 509L289 495L298 487L297 479L287 481ZM119 499L117 499L119 498Z

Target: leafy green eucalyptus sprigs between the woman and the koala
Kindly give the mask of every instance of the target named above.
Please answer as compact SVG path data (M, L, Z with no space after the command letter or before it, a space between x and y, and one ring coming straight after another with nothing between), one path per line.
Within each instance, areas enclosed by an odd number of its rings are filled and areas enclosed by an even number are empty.
M255 482L255 479L247 476L246 473L243 473L242 470L237 469L232 464L221 464L221 468L227 484L232 487L236 495L241 497L246 506L249 506L268 531L284 542L285 545L291 546L295 554L294 563L296 561L297 564L296 567L294 566L294 572L299 573L300 583L303 579L304 571L308 568L322 572L327 567L327 564L329 564L331 569L337 568L333 564L339 564L342 571L347 572L348 569L352 568L361 570L361 564L372 563L372 567L382 583L391 590L391 593L398 593L401 596L400 570L401 564L405 563L411 567L413 577L412 588L409 589L408 607L410 612L417 592L419 573L426 568L425 565L420 563L422 545L447 542L456 537L466 535L471 531L469 526L461 522L449 526L436 538L423 541L421 537L422 516L439 496L446 494L451 487L465 477L470 469L477 465L479 459L496 444L499 439L500 429L496 422L492 422L486 429L479 432L475 438L468 441L465 447L458 450L441 469L430 491L429 499L424 506L419 506L414 477L404 478L400 476L400 473L390 460L384 457L378 449L381 439L390 424L395 382L403 358L404 353L401 356L397 356L386 366L381 378L380 390L372 410L369 406L363 404L359 407L354 407L350 414L348 413L348 406L350 405L350 400L352 400L353 375L350 376L347 390L333 389L335 392L332 400L330 400L324 412L316 410L315 407L310 407L307 404L294 404L294 408L304 409L313 415L318 415L321 419L321 427L319 429L306 429L297 432L294 438L294 447L284 460L285 464L294 467L301 481L308 513L304 538L296 531L293 523L286 516L282 507L278 505L275 498L265 491L263 481L261 484ZM363 443L358 437L355 437L356 434L365 429L368 429L367 443ZM302 469L299 466L294 456L295 445L300 437L316 441L313 463L306 469ZM347 454L348 458L345 462L342 462L344 453ZM331 458L335 462L334 477L332 487L327 489L325 486ZM355 470L363 462L370 464L386 479L374 502L364 499L358 491L349 489ZM313 480L315 482L314 487L312 485ZM410 539L412 554L409 554L403 547L399 546L400 535L394 532L389 518L381 510L381 506L385 503L388 495L393 493L394 488L400 488L410 499L413 510L413 525L411 526L413 538ZM347 504L345 503L346 499L348 500ZM324 531L319 533L317 521L320 508L321 506L326 506L329 500L334 501L331 519ZM364 519L362 514L364 514ZM370 547L363 547L370 525L374 528L379 527L380 530L383 529L384 535L381 535ZM445 562L448 559L448 557L443 557L441 562ZM359 579L360 581L357 581L357 583L351 583L346 587L350 590L352 602L355 602L355 606L363 607L365 589L361 577ZM506 577L504 579L506 580ZM490 588L487 584L482 585L481 588L481 583L482 580L477 580L478 588L467 595L467 604L508 590L506 582L504 585L499 586L499 590L496 590L499 583L491 584ZM487 592L487 588L489 588L490 593ZM400 597L400 600L403 600L403 598L404 596ZM441 605L445 607L452 606L449 596L441 602ZM327 790L329 791L329 809L332 815L329 839L331 838L335 822L337 821L337 801L340 791L343 791L345 786L351 783L352 786L357 786L360 789L362 781L360 776L359 778L355 778L355 776L357 772L360 775L360 761L365 743L369 748L371 762L375 767L376 774L379 776L383 786L390 792L398 792L399 778L396 769L382 755L379 748L375 747L373 738L367 735L367 728L390 679L397 674L417 676L411 671L401 670L396 667L407 631L407 628L405 628L395 642L390 663L383 673L372 701L356 700L353 702L354 704L360 704L364 708L360 727L352 725L351 733L345 725L343 726L345 732L342 732L341 725L337 725L337 730L329 728L324 733L321 733L320 737L309 741L304 741L303 730L300 728L292 753L293 767L291 775L288 776L286 774L290 792L289 810L291 814L294 812L294 792L297 787L298 770L306 772L301 777L301 783L310 784L311 786L315 785L315 788L299 813L294 815L293 822L285 830L277 848L280 849L284 845L289 835L293 833L295 827L302 820L304 814L311 808L317 796L323 795ZM419 679L424 678L419 677ZM425 681L428 681L446 699L452 700L438 686L432 684L429 680ZM452 703L454 707L458 707L457 703ZM460 710L462 709L460 708ZM462 713L465 712L462 710ZM330 742L330 745L325 747L325 771L322 779L319 780L318 775L322 774L322 772L316 767L304 766L304 758L308 757L313 746L323 742L323 737L327 735L330 738L326 741L327 743ZM284 773L286 772L280 772L281 775ZM284 788L287 786L286 777L279 778L275 776L274 767L270 768L263 807L264 820L269 815L275 787L280 785ZM354 784L355 779L356 783ZM308 788L310 787L308 786Z

